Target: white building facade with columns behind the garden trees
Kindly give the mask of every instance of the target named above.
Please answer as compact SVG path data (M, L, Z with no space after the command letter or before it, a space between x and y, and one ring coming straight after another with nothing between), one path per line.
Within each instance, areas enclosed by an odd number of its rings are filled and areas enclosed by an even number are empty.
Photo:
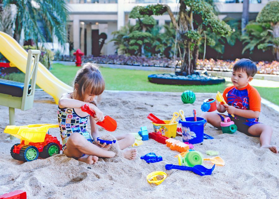
M269 0L250 0L250 19L255 19L259 11ZM135 24L135 19L129 19L129 13L135 6L148 4L167 4L175 13L178 11L177 0L67 0L69 6L68 34L69 41L74 49L81 49L86 55L95 54L95 47L99 46L98 35L104 32L108 38L101 50L102 55L115 54L112 32L119 30L126 24ZM233 17L241 19L241 0L219 0L216 3L219 9L219 18ZM159 25L170 23L166 13L162 16L153 16Z

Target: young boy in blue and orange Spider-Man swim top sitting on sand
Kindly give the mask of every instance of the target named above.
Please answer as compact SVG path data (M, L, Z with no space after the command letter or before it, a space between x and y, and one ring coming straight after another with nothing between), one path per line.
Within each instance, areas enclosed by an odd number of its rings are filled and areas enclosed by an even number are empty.
M273 153L278 153L277 147L270 145L272 128L259 123L261 111L261 97L259 92L249 84L257 72L257 67L250 59L241 59L233 66L232 83L224 90L223 97L228 105L217 102L220 113L228 111L228 115L206 112L202 118L213 126L219 128L221 121L230 117L237 125L237 130L249 136L259 137L261 148L268 148ZM234 117L232 117L232 114Z

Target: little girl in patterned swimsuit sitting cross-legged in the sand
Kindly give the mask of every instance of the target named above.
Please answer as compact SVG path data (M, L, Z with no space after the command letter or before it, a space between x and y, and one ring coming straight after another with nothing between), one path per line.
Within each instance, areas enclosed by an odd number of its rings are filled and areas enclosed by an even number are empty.
M113 158L115 153L108 151L111 144L100 144L96 142L99 137L96 122L103 121L104 115L97 108L95 97L103 93L105 83L97 66L86 63L78 70L74 80L73 93L64 93L58 105L58 123L60 136L62 138L62 152L70 158L88 164L98 162L98 157ZM96 114L95 117L81 110L88 104L89 108ZM88 118L90 118L91 133L88 132ZM123 150L124 158L134 160L136 149L128 149L135 137L130 134L115 136L119 147Z

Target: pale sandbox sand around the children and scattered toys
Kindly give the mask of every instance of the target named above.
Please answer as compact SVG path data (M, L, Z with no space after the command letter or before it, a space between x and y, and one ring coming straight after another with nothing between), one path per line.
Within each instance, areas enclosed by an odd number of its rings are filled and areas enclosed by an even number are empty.
M99 104L105 115L116 119L118 127L112 135L138 132L141 126L153 131L152 124L146 118L149 113L161 119L170 119L174 111L183 109L186 117L192 116L192 110L201 114L202 101L212 95L196 95L197 100L184 105L180 93L147 92L110 92L102 95ZM16 125L34 123L57 123L57 105L51 96L36 91L32 109L15 110ZM0 195L14 190L24 190L28 198L278 198L279 156L269 149L259 149L259 138L243 133L222 134L211 125L205 133L214 137L194 145L194 149L204 157L206 150L219 151L225 166L216 166L212 175L199 176L191 171L165 170L165 164L177 164L174 158L178 152L154 140L144 141L136 147L138 156L135 161L114 158L104 161L101 158L96 165L79 162L58 154L47 159L32 162L20 162L10 155L11 146L18 141L7 140L3 133L8 125L8 108L0 106ZM260 122L272 126L274 132L271 144L279 143L278 112L262 106ZM50 133L59 137L58 128ZM100 134L108 134L100 128ZM182 141L180 136L176 137ZM146 163L140 156L155 152L163 157L162 162ZM203 165L211 168L212 164ZM167 178L156 186L149 184L146 176L153 171L165 171Z

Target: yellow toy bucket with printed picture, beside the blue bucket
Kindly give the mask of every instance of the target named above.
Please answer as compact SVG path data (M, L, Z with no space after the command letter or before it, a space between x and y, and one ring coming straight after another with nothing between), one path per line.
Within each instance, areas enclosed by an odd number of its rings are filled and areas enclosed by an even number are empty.
M176 130L177 130L177 124L178 122L174 122L172 124L170 123L170 120L163 120L166 124L153 124L154 132L160 132L162 133L162 136L166 137L175 137L176 136Z

